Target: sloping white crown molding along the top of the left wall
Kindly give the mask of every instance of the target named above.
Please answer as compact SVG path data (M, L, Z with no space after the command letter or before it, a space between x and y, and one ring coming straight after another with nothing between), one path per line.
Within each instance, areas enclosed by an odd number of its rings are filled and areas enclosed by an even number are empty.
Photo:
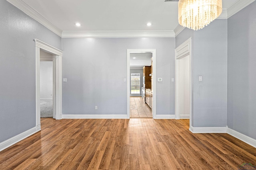
M61 37L62 30L52 24L50 21L46 20L41 14L39 14L36 10L34 10L31 6L29 6L24 0L6 0L10 4L16 6L18 9L22 10L25 14L38 21L52 32L56 33Z

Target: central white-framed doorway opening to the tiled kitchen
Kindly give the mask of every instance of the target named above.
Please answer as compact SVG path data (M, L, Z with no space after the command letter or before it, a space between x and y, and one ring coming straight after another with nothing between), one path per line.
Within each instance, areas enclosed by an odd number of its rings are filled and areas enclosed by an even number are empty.
M156 67L156 49L128 49L127 50L127 118L156 118L156 104L153 101L156 95L155 80ZM145 101L145 75L143 67L151 67L148 73L151 92L151 102ZM149 75L150 74L150 75ZM148 80L147 79L147 80ZM152 88L151 88L152 84ZM156 94L156 93L154 93ZM149 101L149 100L148 100Z

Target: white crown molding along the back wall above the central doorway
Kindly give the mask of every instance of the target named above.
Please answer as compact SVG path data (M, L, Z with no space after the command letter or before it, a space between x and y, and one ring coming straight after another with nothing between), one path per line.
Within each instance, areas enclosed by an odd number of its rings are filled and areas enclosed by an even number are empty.
M62 38L175 37L174 31L62 31Z

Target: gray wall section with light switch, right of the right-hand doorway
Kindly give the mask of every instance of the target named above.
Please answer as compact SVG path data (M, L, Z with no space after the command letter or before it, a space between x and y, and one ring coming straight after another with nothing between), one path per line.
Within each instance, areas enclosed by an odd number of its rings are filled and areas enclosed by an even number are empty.
M227 20L198 31L184 29L176 47L192 37L192 126L227 125ZM198 76L203 81L198 81Z

